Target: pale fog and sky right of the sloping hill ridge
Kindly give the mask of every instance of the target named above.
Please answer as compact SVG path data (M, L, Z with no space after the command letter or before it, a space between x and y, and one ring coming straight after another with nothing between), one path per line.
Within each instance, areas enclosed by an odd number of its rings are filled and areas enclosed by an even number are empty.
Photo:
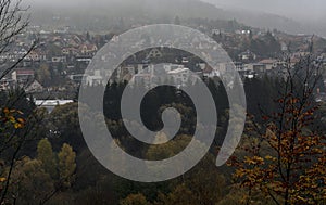
M252 26L276 27L291 33L326 36L326 2L324 0L202 0L235 11L239 20ZM273 16L274 15L274 16Z

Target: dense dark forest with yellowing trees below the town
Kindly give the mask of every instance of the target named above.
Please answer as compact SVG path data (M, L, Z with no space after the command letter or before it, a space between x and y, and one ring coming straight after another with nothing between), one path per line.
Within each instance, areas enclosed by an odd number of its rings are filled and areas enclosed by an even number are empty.
M277 154L273 151L273 146L265 142L259 143L266 138L265 134L259 131L266 131L271 126L271 121L277 121L277 118L268 119L267 116L281 113L281 110L279 110L279 105L283 103L281 99L289 97L280 95L279 90L280 85L287 85L287 81L268 77L244 80L249 105L244 137L228 166L220 168L215 167L214 158L223 142L228 124L228 101L225 88L218 79L206 79L205 81L214 97L218 112L218 125L214 144L212 144L206 156L189 172L174 180L160 183L131 182L103 168L89 152L83 139L78 123L77 102L57 106L53 112L48 113L43 108L36 108L33 102L26 100L26 94L21 90L2 93L2 99L5 99L2 103L7 105L5 107L11 108L10 103L15 102L15 110L24 113L21 116L20 113L14 113L15 111L2 110L4 115L7 112L13 112L14 119L33 116L33 120L26 120L24 128L13 127L13 129L17 128L18 132L17 139L13 139L11 142L14 145L24 140L24 146L20 150L17 154L18 159L14 163L5 202L15 201L18 204L35 204L36 202L40 204L229 204L229 202L233 202L233 204L242 204L243 201L250 198L254 204L273 204L272 196L266 196L265 188L261 188L262 183L248 180L253 180L254 177L258 180L259 177L262 178L263 176L255 176L259 175L256 172L259 170L271 171L271 175L273 172L273 169L271 168L269 170L268 167L273 165ZM297 84L299 88L300 82ZM120 146L129 154L147 159L162 159L181 152L190 142L196 125L196 107L193 107L187 94L181 89L158 87L146 95L141 104L141 117L148 129L160 130L162 128L161 114L166 107L175 107L183 116L181 128L172 141L162 145L147 145L134 139L122 121L120 100L125 86L126 82L113 82L108 85L106 88L88 88L105 89L103 110L108 129L112 132ZM141 89L141 86L134 89L137 92L137 89ZM291 92L299 93L297 91L292 90ZM291 101L293 100L291 99ZM299 99L297 101L298 103L300 102ZM310 101L310 103L313 104L309 104L305 112L311 113L309 115L304 114L303 118L306 120L306 125L300 130L300 133L302 132L303 134L303 131L305 134L316 132L316 134L318 133L322 137L325 134L325 130L323 130L325 105L314 103L314 101ZM26 106L26 104L29 104L29 106ZM96 105L85 106L97 107ZM289 110L287 112L292 111ZM290 114L287 113L287 115ZM287 116L287 118L290 118L290 116ZM313 124L310 124L310 120L313 120ZM26 133L25 129L28 129L28 125L30 125L32 130L28 130ZM255 130L258 127L259 130ZM5 132L9 132L9 130L7 129ZM273 132L272 128L271 132ZM309 136L305 138L313 140L314 137ZM314 139L317 142L308 140L304 142L304 146L309 146L312 151L317 151L325 143L325 139L319 139L319 137ZM164 138L164 133L161 133L160 138ZM1 138L1 140L4 139ZM1 144L8 145L3 141ZM262 150L266 159L258 157L258 153L255 153L258 149ZM325 158L323 159L325 152L321 150L319 152L314 154L322 154L319 163L325 165ZM309 170L306 167L314 163L311 162L311 154L305 155L309 156L309 162L300 161L301 168L297 167L294 169L294 172L299 171L296 175L305 176L303 175L304 171L314 171ZM5 162L10 162L12 149L1 152L1 156L4 166L2 170L5 176L5 172L10 171L10 164ZM249 158L251 156L252 158ZM283 155L283 157L285 156ZM272 161L272 163L266 162L265 166L261 161ZM271 165L267 166L267 163L271 163ZM248 167L246 167L247 164ZM253 168L253 165L261 165L260 169ZM316 162L315 166L317 165L318 163ZM297 197L294 193L291 193L291 202L292 200L293 202L311 202L312 198L317 204L325 202L323 196L323 192L325 192L323 178L325 176L322 175L325 171L325 167L321 167L321 165L315 170L322 171L319 175L309 175L309 177L312 177L309 180L315 180L314 177L317 178L313 185L315 195L312 197L306 194L304 197ZM275 180L275 182L279 180L274 176L269 176L268 179ZM243 181L241 182L241 180ZM5 182L4 179L3 182ZM258 183L258 187L255 187L255 183ZM269 189L273 189L274 181L269 183L266 181L266 187L271 185ZM300 191L304 189L303 185L293 189ZM308 189L306 191L311 193L312 190ZM283 202L283 194L281 190L278 190L274 191L273 196L278 202ZM302 201L300 200L301 197Z

